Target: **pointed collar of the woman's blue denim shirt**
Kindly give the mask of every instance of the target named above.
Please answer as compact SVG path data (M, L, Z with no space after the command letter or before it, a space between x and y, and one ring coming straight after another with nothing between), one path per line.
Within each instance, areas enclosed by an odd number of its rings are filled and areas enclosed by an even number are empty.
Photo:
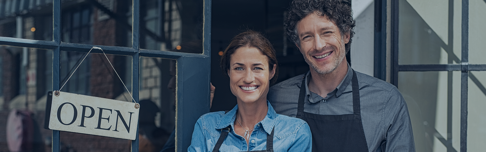
M259 123L255 124L255 129L257 129L256 125L261 124L263 126L263 130L270 134L272 132L273 127L275 126L276 120L275 118L277 117L277 113L273 109L272 105L270 105L270 102L267 100L267 106L268 106L268 111L267 115L263 120L261 120ZM228 126L231 126L231 128L234 128L233 124L235 122L236 118L236 112L238 111L238 105L236 105L231 111L223 115L221 119L219 119L218 124L216 124L215 129L223 129Z

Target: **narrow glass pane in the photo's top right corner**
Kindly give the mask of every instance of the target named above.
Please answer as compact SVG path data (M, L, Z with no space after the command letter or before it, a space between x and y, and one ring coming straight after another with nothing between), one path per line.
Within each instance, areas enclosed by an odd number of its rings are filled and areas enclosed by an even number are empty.
M469 64L485 64L486 1L469 0Z

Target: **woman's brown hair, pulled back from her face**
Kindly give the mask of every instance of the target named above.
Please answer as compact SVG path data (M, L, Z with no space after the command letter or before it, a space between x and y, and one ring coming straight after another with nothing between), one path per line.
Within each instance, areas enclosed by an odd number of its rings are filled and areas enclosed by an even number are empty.
M265 38L263 34L253 30L246 30L231 39L231 42L221 56L220 66L221 70L223 70L223 74L228 76L227 72L229 70L229 61L231 60L231 55L233 55L233 53L235 53L235 51L241 47L256 48L261 52L261 54L267 57L268 67L270 70L275 70L274 77L270 79L270 84L274 84L278 77L278 62L275 49L273 48L272 43L270 43L270 41ZM273 69L274 64L277 65L275 69Z

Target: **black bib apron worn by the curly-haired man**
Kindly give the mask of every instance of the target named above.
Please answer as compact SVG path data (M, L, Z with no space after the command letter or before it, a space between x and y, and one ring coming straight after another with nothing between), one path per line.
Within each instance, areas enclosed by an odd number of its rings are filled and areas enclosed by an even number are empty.
M297 118L309 124L312 133L312 152L368 152L361 123L360 91L353 70L353 114L321 115L304 112L305 76L300 86Z

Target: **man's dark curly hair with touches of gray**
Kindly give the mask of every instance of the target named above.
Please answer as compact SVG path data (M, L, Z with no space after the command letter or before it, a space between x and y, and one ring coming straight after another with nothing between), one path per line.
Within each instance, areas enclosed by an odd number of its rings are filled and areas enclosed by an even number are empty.
M294 0L288 9L285 25L287 35L294 42L300 45L300 38L297 33L297 23L311 13L319 16L326 16L341 31L341 35L349 33L349 42L345 44L346 53L351 47L351 38L354 36L354 26L356 21L353 19L351 7L341 0Z

